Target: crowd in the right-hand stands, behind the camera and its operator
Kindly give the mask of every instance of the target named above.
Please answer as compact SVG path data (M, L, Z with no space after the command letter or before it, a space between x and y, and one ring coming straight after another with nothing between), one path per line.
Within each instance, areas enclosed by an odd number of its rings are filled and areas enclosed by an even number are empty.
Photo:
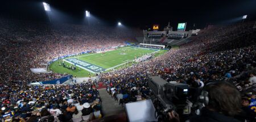
M255 94L256 86L256 30L253 23L213 26L192 39L163 56L102 73L100 81L109 83L107 91L113 96L116 93L123 95L127 102L136 101L134 98L140 98L140 95L144 95L142 98L149 95L141 92L148 89L147 77L151 75L158 75L168 82L187 83L191 88L203 88L212 81L228 81L245 99L251 99L246 107L250 105L254 109L251 111L255 111L254 98L250 97Z

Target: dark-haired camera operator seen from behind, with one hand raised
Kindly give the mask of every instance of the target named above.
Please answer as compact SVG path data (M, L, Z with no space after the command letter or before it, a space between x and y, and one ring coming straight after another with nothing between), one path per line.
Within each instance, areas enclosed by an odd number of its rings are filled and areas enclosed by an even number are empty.
M240 92L227 82L210 82L204 87L207 92L207 99L204 102L199 116L192 116L187 122L237 122L234 115L238 115L241 110ZM179 115L174 111L168 113L170 121L179 121Z

